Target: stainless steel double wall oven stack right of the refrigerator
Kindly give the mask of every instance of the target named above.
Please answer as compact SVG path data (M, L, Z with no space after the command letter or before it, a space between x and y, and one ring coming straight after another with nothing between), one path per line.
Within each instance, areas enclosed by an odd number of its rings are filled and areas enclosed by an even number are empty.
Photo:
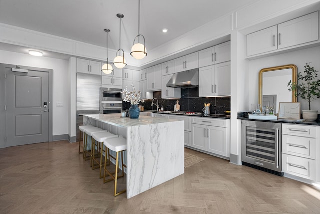
M122 89L100 88L100 112L102 114L120 113L122 109Z

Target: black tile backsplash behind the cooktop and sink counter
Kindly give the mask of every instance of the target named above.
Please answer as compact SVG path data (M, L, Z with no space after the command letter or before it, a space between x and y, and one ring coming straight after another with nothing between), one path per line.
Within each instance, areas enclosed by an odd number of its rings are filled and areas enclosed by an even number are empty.
M230 97L198 97L198 88L181 89L181 98L162 99L161 91L153 92L153 98L158 99L158 105L163 106L164 111L173 111L174 104L179 101L180 111L202 112L204 103L210 103L210 114L225 114L224 111L230 110ZM156 110L151 106L152 99L142 103L144 110ZM129 103L123 102L123 109L128 109Z

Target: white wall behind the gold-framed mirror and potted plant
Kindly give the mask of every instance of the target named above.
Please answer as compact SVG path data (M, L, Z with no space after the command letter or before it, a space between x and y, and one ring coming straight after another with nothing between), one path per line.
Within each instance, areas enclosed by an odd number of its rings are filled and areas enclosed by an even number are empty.
M311 62L310 66L320 72L319 56L320 47L313 47L249 61L250 84L248 84L249 102L246 106L247 111L250 110L251 104L257 104L258 102L258 75L262 68L294 64L297 66L297 72L303 72L305 63ZM298 97L298 102L301 102L301 110L308 109L308 103L305 100ZM320 99L311 102L311 109L320 112Z

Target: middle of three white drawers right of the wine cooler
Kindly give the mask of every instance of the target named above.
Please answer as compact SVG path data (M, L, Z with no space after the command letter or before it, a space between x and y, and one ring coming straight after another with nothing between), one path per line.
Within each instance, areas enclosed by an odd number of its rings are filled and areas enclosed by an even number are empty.
M315 159L315 139L292 135L282 135L282 153Z

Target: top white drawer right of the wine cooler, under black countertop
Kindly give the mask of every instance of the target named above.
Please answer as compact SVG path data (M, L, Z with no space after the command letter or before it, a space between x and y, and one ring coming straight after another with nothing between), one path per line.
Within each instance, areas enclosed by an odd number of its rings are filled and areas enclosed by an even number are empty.
M282 123L282 134L315 138L316 136L315 129L316 129L315 126Z

